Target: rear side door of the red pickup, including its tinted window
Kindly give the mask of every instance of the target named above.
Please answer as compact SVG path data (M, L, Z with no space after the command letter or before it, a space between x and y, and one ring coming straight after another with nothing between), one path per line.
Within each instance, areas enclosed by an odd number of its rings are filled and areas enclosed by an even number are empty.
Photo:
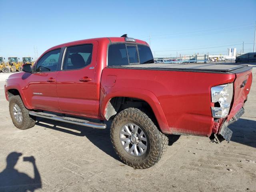
M62 112L96 116L94 84L98 42L66 47L56 89Z

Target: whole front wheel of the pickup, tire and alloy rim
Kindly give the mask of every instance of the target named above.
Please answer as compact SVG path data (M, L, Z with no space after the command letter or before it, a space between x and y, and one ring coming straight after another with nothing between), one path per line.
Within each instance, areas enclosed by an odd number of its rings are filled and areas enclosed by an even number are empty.
M19 95L9 98L9 111L13 124L21 130L34 127L36 117L28 114L29 110L24 106Z

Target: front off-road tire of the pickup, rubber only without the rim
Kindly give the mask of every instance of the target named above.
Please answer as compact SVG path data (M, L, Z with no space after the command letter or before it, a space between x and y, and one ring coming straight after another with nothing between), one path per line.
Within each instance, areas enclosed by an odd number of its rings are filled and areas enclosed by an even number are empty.
M14 114L13 114L14 104L17 104L21 109L22 122L18 122L14 117ZM12 122L14 126L16 126L18 129L25 130L35 126L36 117L30 116L28 114L29 110L24 106L22 99L20 98L19 95L11 96L9 98L9 111L10 111L10 116L12 118Z

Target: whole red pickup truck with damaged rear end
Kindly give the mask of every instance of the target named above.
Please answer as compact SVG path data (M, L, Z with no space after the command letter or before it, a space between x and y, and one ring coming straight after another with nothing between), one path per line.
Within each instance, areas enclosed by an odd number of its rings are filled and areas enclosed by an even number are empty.
M54 46L22 70L4 86L17 128L36 117L100 129L111 121L116 153L142 169L160 160L166 134L229 141L252 84L250 66L154 63L146 42L125 35Z

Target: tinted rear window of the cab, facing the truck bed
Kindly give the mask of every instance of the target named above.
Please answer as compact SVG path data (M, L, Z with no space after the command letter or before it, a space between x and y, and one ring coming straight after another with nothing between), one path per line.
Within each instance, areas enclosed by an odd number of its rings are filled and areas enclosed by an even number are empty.
M108 48L108 66L154 63L150 48L146 45L111 44Z

